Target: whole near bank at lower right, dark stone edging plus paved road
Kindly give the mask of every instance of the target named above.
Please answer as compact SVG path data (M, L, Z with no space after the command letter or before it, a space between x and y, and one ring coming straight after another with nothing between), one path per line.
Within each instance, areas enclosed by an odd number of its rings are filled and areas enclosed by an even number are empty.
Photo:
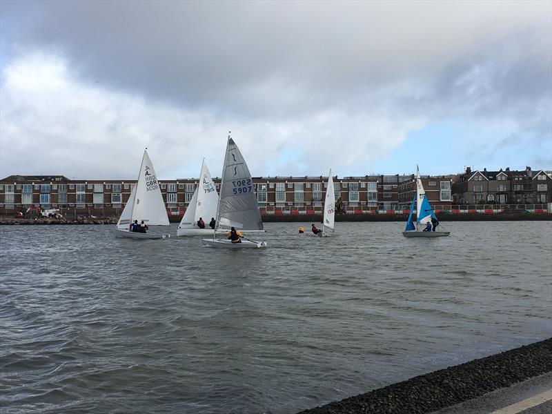
M552 413L551 390L552 338L300 414Z

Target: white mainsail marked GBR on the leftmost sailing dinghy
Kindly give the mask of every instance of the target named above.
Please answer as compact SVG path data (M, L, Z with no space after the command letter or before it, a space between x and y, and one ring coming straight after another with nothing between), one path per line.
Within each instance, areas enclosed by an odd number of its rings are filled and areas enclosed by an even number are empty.
M138 220L139 223L144 220L149 226L170 226L161 188L147 151L144 151L135 189L130 219Z

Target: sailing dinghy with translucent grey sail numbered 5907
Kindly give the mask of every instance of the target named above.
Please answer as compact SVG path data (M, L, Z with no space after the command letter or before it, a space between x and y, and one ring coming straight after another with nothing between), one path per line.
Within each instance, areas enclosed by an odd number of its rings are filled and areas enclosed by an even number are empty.
M215 233L230 231L234 227L240 231L262 232L263 221L253 189L253 179L246 161L239 152L234 140L228 135L226 155L220 185L219 202ZM215 248L266 248L266 242L254 242L242 239L241 243L232 243L228 239L201 239L204 246Z

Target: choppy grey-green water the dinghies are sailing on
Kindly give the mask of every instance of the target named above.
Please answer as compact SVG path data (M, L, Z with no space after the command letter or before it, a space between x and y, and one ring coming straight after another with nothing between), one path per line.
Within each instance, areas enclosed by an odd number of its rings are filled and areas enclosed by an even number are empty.
M293 413L552 335L552 222L298 226L2 226L1 412Z

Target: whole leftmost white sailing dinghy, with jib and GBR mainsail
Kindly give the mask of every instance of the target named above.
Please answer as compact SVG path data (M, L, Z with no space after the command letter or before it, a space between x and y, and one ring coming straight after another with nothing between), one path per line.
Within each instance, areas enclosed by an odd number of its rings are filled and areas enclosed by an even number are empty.
M123 213L119 217L115 235L129 239L164 239L170 237L170 235L154 233L151 230L148 230L148 233L132 232L129 226L135 220L138 220L139 224L144 221L148 226L170 226L161 188L159 188L159 182L148 156L148 151L144 151L137 183L132 187L130 197L128 197Z

